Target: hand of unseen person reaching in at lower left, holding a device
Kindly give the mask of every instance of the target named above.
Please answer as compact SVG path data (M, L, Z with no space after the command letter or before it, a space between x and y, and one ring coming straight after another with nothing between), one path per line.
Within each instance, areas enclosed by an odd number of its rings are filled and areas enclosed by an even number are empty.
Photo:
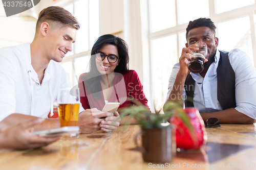
M31 133L32 128L44 122L44 118L36 118L14 125L0 132L0 148L29 149L44 147L60 138L41 137Z

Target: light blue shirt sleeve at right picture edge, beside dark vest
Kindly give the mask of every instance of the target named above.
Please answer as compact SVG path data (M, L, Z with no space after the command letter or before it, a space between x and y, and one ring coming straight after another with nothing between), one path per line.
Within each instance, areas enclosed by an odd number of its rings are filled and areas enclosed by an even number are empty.
M256 118L256 72L250 57L239 49L229 52L235 73L236 103L234 108L253 119Z

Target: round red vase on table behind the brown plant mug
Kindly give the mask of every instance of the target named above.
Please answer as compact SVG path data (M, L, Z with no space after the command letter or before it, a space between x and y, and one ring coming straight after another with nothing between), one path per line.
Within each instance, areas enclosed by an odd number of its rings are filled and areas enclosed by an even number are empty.
M178 116L173 116L170 123L176 125L176 145L180 149L199 149L206 143L207 134L203 118L196 108L183 109L193 127L191 132Z

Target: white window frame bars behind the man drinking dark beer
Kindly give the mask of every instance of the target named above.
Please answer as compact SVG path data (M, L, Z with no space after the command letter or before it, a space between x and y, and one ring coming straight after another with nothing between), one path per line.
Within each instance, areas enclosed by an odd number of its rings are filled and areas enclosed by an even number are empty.
M143 0L141 0L143 1ZM167 28L164 30L160 30L157 32L151 32L151 15L150 15L150 1L156 1L156 0L147 0L147 19L148 19L148 44L149 44L149 56L148 56L148 60L150 61L150 67L148 68L149 70L152 70L154 67L153 64L153 51L152 51L152 40L154 39L158 39L158 38L162 38L162 37L166 37L169 35L177 35L177 51L178 51L178 60L179 57L181 55L181 51L182 48L185 47L185 44L182 44L183 46L180 46L180 33L184 32L186 30L186 27L188 25L187 23L183 23L181 25L178 25L178 12L177 12L177 1L179 0L175 0L175 9L176 9L176 26L172 27L172 28ZM223 13L219 13L217 14L217 10L216 10L216 1L215 0L208 0L208 4L209 4L209 16L207 16L206 18L211 18L212 21L214 21L215 25L217 26L219 23L221 22L225 22L225 21L229 21L229 20L233 20L233 19L238 19L238 18L242 18L242 17L246 17L249 16L249 20L250 20L250 31L251 31L251 42L252 42L252 54L253 54L253 64L254 67L256 66L256 37L255 37L255 22L254 20L256 20L254 17L256 17L256 2L252 5L248 5L245 7L241 7L238 9L233 9L230 11L226 11ZM143 18L142 18L143 19ZM218 28L216 30L216 37L218 37ZM220 49L221 50L221 49ZM175 64L175 63L174 63ZM152 71L149 72L150 74L150 86L153 87L151 90L151 102L154 103L154 80L155 78L153 77ZM170 75L170 72L168 73ZM168 81L168 80L164 80L164 81ZM166 87L167 89L167 87ZM167 93L166 93L167 95ZM155 107L155 106L154 106ZM154 108L155 109L155 108Z

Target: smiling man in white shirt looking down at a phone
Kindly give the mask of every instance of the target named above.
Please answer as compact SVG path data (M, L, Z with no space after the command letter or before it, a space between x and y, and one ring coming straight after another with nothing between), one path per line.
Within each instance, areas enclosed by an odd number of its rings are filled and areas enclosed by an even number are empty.
M66 71L57 62L72 51L79 28L79 22L70 12L48 7L39 13L31 44L0 49L1 130L36 117L47 118L49 111L53 111L58 89L71 87ZM93 116L92 112L100 111L84 111L81 105L79 112L78 126L82 133L99 129L109 132L119 126L118 121L113 122L116 117L112 113ZM100 117L107 117L107 121L102 124ZM46 119L34 130L59 126L58 119Z

